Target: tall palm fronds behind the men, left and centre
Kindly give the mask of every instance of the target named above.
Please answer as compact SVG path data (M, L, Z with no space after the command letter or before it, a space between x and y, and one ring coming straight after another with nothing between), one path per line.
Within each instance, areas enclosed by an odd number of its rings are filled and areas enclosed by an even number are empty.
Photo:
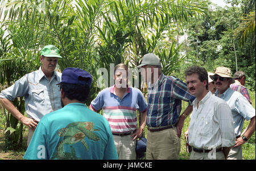
M156 53L167 74L177 69L185 57L180 57L180 46L175 46L174 36L180 34L177 25L182 29L181 22L207 10L203 0L31 0L1 1L0 6L1 86L9 87L24 74L38 70L40 49L53 44L63 57L60 70L80 67L93 75L87 105L102 88L97 86L101 76L97 71L105 68L111 78L111 63L135 67L144 54ZM14 102L24 114L23 103L23 99ZM6 122L15 123L6 125L6 133L22 135L22 125L8 112Z

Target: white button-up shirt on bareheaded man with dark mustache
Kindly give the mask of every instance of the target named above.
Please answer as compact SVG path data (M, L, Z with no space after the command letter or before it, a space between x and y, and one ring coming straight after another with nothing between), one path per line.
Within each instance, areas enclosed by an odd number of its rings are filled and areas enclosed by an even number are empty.
M199 101L193 101L189 123L189 145L200 149L232 147L236 142L233 117L226 102L208 92Z

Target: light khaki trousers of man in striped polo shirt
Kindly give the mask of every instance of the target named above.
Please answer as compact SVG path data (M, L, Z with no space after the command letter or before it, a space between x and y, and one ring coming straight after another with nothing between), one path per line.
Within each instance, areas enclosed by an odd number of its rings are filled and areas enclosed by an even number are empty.
M136 139L132 140L131 135L118 136L113 135L115 148L117 148L117 154L119 160L135 160L136 159Z

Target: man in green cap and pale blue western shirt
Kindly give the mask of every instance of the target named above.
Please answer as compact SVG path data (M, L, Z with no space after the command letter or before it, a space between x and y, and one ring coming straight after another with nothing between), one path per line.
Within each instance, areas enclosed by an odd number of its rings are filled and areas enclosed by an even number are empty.
M61 58L59 49L53 45L44 46L41 51L39 70L24 75L13 86L0 93L0 102L15 118L28 126L27 145L30 143L34 130L40 119L47 113L61 108L60 90L56 86L61 81L61 73L55 68ZM25 117L13 105L16 97L25 97Z

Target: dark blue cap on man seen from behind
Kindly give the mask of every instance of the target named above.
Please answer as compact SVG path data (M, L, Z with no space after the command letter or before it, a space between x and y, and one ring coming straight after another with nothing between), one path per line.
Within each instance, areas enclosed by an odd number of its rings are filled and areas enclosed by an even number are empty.
M79 85L90 85L92 84L92 75L88 72L78 68L65 68L61 75L61 82L56 84L79 84Z

